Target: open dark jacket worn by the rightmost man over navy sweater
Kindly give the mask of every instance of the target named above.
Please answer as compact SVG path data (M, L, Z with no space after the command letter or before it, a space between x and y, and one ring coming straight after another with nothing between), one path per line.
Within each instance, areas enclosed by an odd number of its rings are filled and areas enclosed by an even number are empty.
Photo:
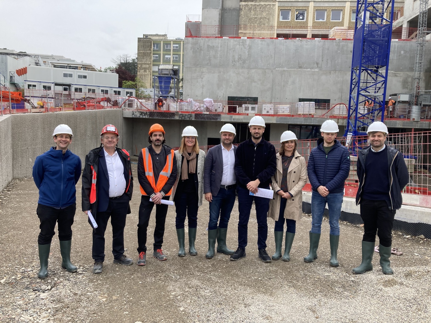
M367 155L371 149L371 146L368 146L358 152L358 178L359 178L359 189L358 193L356 193L356 205L361 202L361 193L362 186L365 182L365 161L367 159ZM406 187L409 183L409 171L407 170L406 162L404 162L403 154L401 154L397 149L386 146L387 151L387 162L389 166L389 183L390 188L388 187L389 196L390 196L390 210L398 210L401 208L403 204L403 197L401 195L401 191ZM373 153L373 152L372 152Z

